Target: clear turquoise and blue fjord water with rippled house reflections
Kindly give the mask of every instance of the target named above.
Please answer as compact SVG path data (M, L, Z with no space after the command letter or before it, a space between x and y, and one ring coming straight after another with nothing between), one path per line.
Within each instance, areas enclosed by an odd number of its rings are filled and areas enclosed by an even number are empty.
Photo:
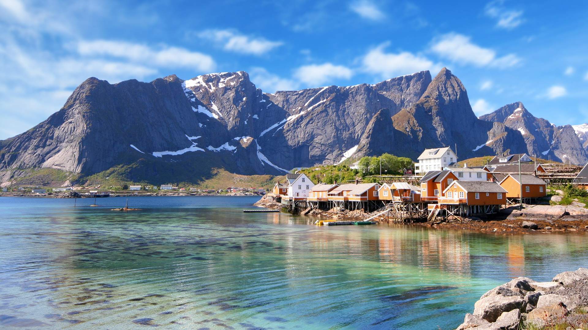
M0 198L0 327L453 329L487 289L588 265L586 235L316 227L258 197Z

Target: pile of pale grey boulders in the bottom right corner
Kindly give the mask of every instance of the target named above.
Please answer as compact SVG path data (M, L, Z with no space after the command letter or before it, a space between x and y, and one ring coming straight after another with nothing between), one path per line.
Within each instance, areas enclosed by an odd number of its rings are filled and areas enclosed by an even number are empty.
M517 277L480 297L456 330L588 329L588 269L551 282Z

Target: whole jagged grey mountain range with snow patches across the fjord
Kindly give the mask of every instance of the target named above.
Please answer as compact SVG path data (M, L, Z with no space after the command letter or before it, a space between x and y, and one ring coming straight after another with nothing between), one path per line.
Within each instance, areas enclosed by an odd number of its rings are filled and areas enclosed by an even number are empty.
M352 155L415 159L425 148L456 145L460 158L530 147L572 162L586 158L571 126L552 128L522 104L503 108L478 119L465 86L446 68L435 78L423 71L273 94L242 71L149 83L89 78L44 122L0 141L0 182L49 168L80 182L198 183L215 169L278 175ZM527 136L532 129L544 134Z

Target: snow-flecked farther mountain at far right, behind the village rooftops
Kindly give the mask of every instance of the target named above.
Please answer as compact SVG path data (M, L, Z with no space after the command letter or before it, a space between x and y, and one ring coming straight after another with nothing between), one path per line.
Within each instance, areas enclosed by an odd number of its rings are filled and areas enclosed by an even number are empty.
M480 119L500 122L518 130L526 143L526 152L532 156L571 161L575 164L584 164L588 161L588 155L572 126L556 127L546 119L537 118L522 102L500 107L495 112L480 116Z

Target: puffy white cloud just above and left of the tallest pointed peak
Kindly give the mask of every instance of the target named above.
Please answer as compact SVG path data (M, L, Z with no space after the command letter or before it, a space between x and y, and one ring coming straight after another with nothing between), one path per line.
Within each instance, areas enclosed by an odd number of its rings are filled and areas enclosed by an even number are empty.
M422 55L410 52L386 53L384 49L389 43L383 43L369 50L362 58L363 70L382 78L393 78L399 75L409 75L422 70L437 71L442 66Z

